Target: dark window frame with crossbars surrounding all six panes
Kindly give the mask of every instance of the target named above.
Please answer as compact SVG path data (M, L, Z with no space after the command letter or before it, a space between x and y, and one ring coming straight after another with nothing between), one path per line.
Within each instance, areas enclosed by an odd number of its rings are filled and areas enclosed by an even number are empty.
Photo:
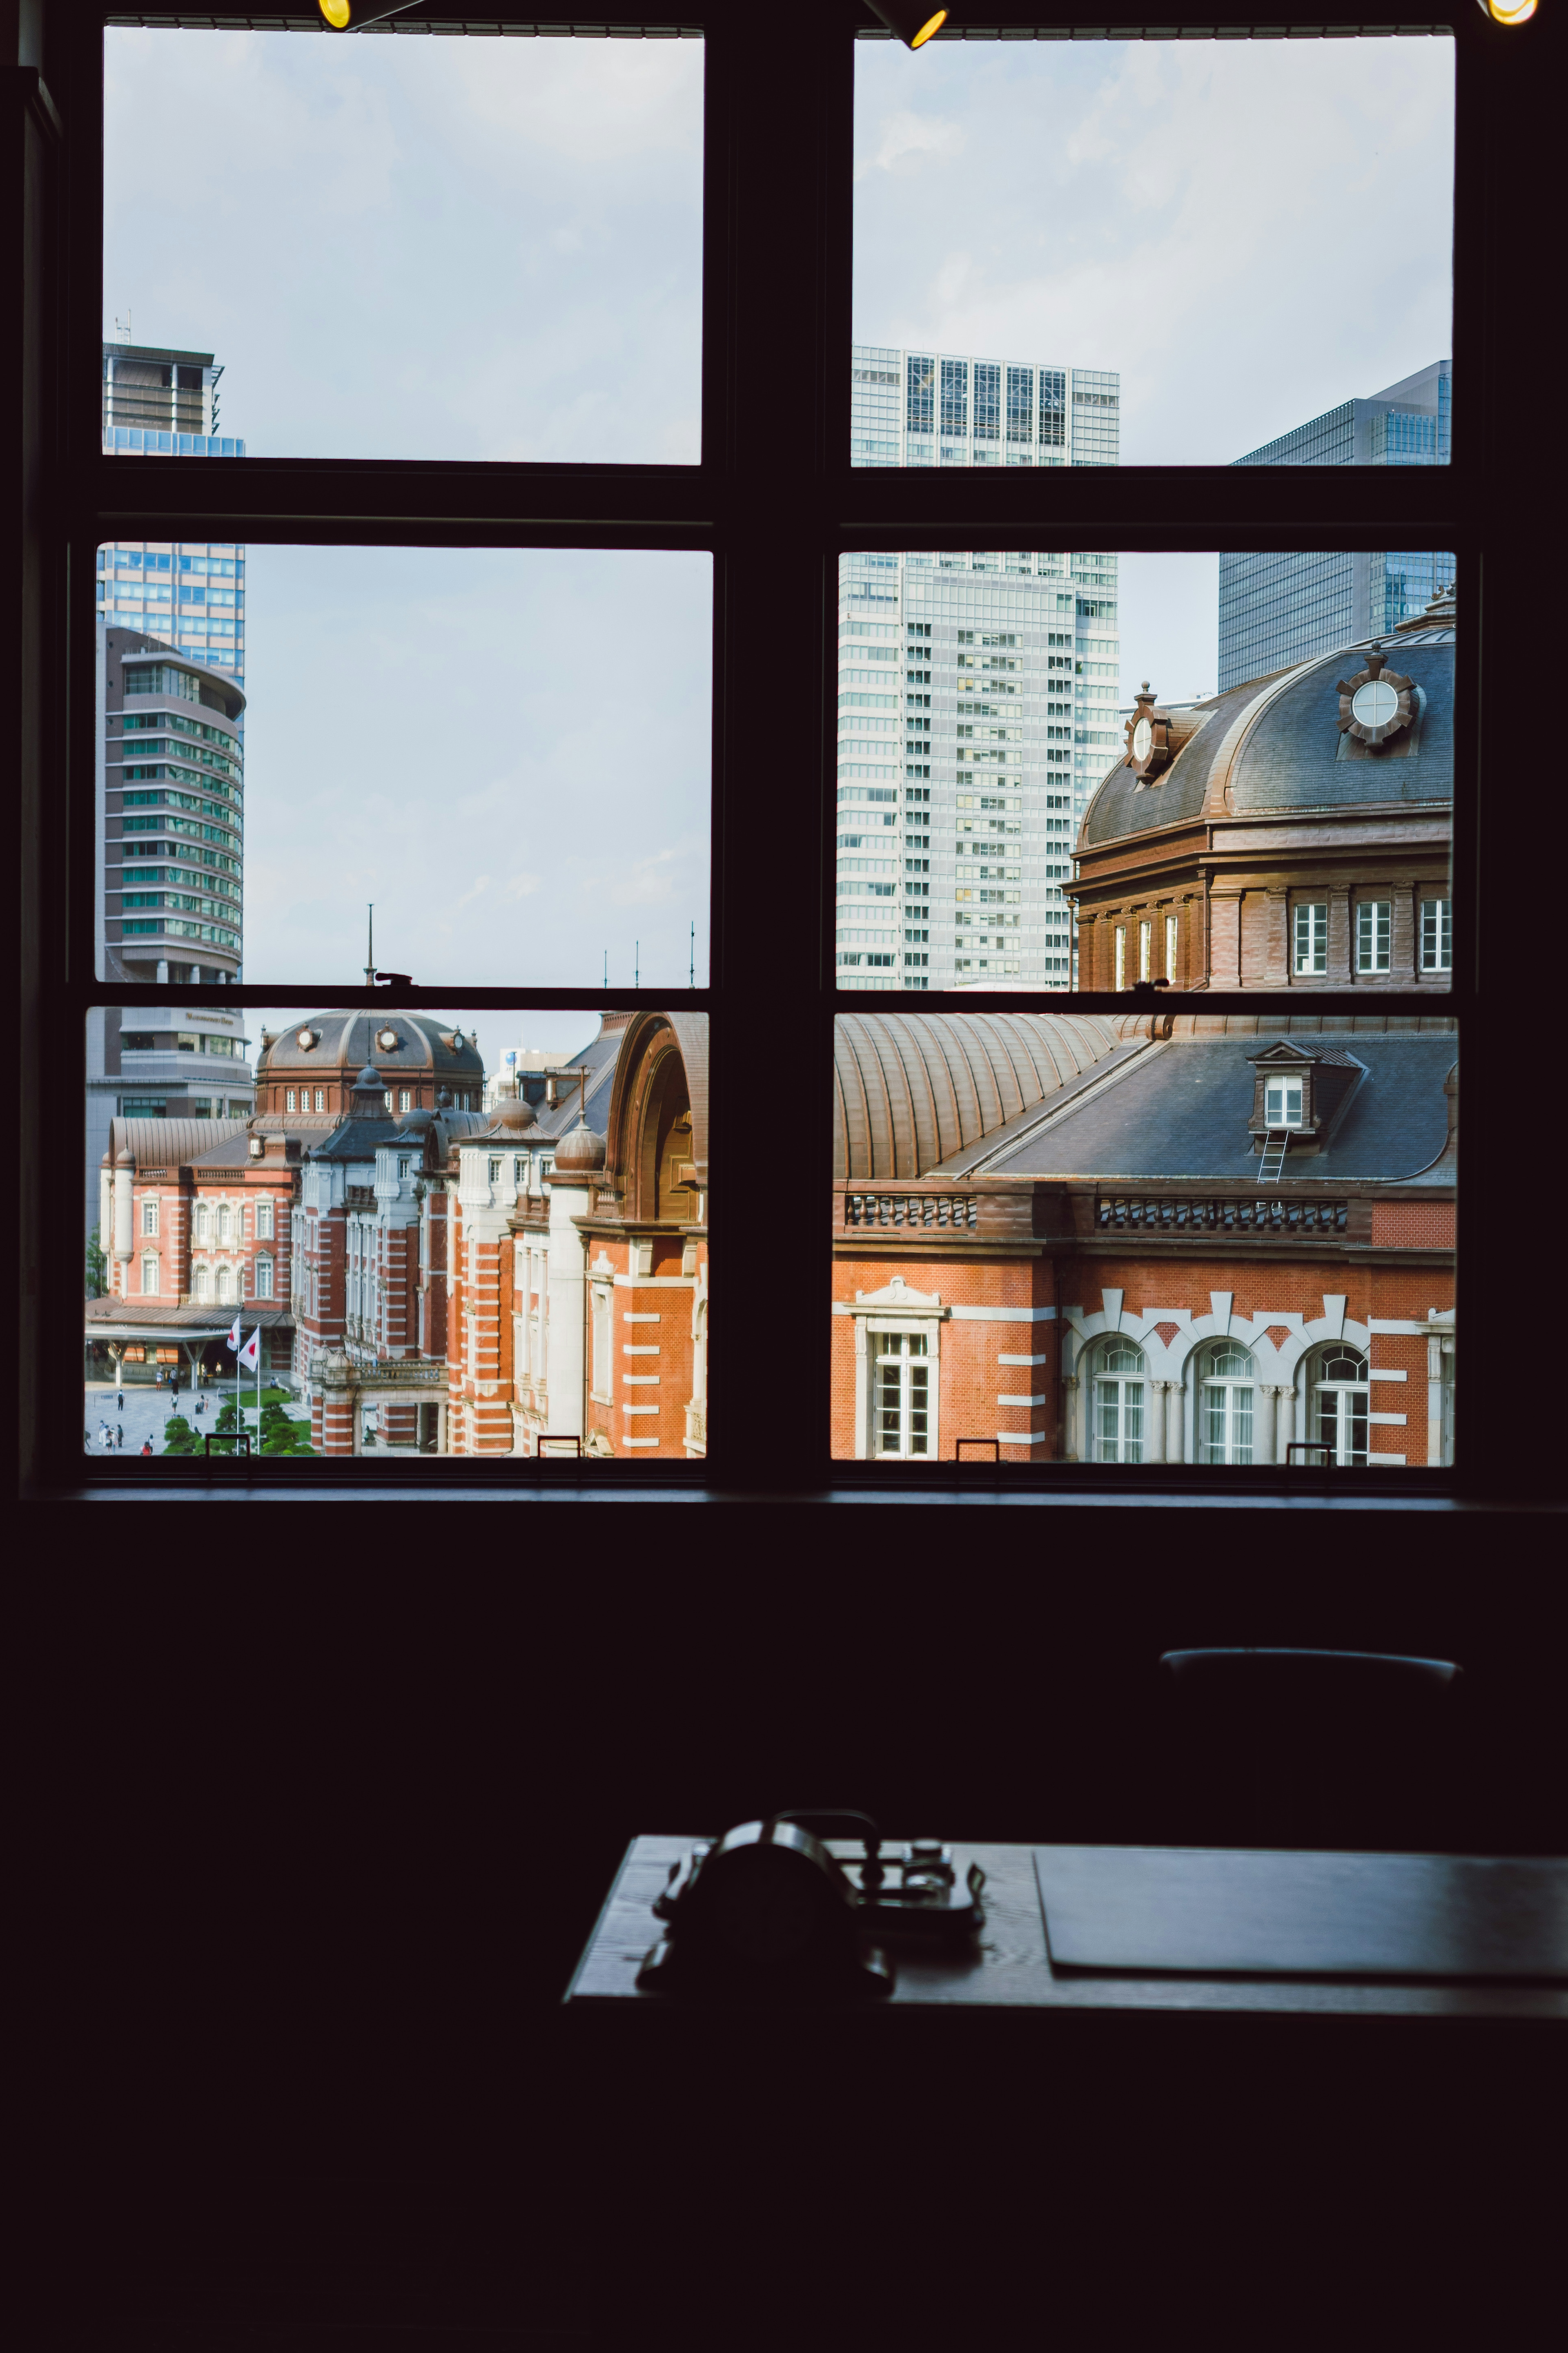
M980 12L976 12L980 14ZM637 1466L635 1485L686 1485L705 1492L813 1494L830 1487L971 1487L997 1485L987 1466L875 1466L832 1461L827 1454L827 1332L820 1348L795 1351L797 1395L783 1445L748 1428L736 1386L724 1377L724 1334L741 1332L743 1268L757 1264L757 1195L778 1188L773 1219L790 1233L790 1289L830 1294L830 1231L820 1202L830 1195L830 1061L832 1016L844 1009L905 1007L907 995L835 995L832 833L837 807L835 704L837 555L844 548L969 548L969 546L1114 546L1161 551L1192 546L1443 546L1458 553L1465 631L1460 642L1460 744L1455 765L1455 962L1446 1012L1462 1035L1479 1038L1469 1056L1467 1092L1467 1214L1458 1294L1465 1304L1469 1348L1497 1332L1502 1292L1512 1275L1502 1261L1502 1221L1481 1205L1505 1198L1505 1160L1514 1158L1509 1059L1516 1007L1547 1005L1544 941L1521 936L1507 887L1502 809L1486 809L1479 762L1481 711L1488 713L1488 772L1521 774L1528 753L1528 713L1509 689L1514 624L1521 605L1544 602L1544 546L1533 541L1537 518L1519 494L1519 473L1493 449L1488 414L1507 431L1512 341L1530 318L1533 266L1519 219L1544 219L1549 181L1542 158L1547 92L1554 85L1549 45L1561 40L1547 12L1526 28L1500 28L1474 0L1446 9L1394 16L1399 31L1448 28L1458 42L1455 75L1455 327L1453 362L1462 384L1455 414L1453 464L1446 468L1363 468L1326 475L1295 468L1016 468L1016 471L851 471L849 369L853 221L853 42L877 38L856 0L806 0L778 26L755 0L705 0L686 19L705 38L705 193L703 193L703 454L696 466L489 466L454 461L322 461L322 459L106 459L99 449L101 344L101 26L136 21L132 12L94 0L42 0L40 45L21 56L21 186L12 226L16 301L24 320L24 360L12 386L14 447L21 449L21 614L14 642L21 685L14 701L14 751L21 776L21 1059L24 1134L47 1136L47 1155L21 1155L24 1266L75 1264L75 1179L54 1184L47 1167L80 1167L82 1014L106 1000L94 979L92 925L92 628L96 548L110 536L209 536L244 541L407 544L407 546L604 546L705 548L715 560L715 736L712 736L712 981L705 991L618 991L618 1002L705 1009L712 1019L712 1289L719 1322L712 1337L708 1464ZM24 12L26 16L26 12ZM954 38L1037 38L1039 9L985 7L985 24L954 26ZM146 16L179 24L179 16ZM214 19L186 19L190 26ZM233 24L235 19L216 19ZM263 19L256 19L263 21ZM280 24L280 19L266 19ZM282 19L301 31L315 19ZM461 19L430 5L400 19L400 38L435 26L496 31L515 19L475 7ZM1067 28L1041 38L1265 38L1267 26L1239 9L1208 9L1204 26L1128 28L1105 7L1081 7ZM604 21L578 28L595 38L616 31ZM625 26L637 31L637 26ZM1272 28L1274 38L1293 31ZM1331 28L1347 31L1347 28ZM1349 28L1354 31L1354 28ZM1373 28L1368 28L1373 31ZM1389 31L1387 19L1378 31ZM26 38L26 35L24 35ZM331 38L331 35L322 35ZM947 38L947 35L943 35ZM1530 209L1530 198L1540 202ZM1354 273L1354 254L1347 256ZM778 381L771 367L780 332L806 348L809 402L802 376ZM799 452L790 461L783 452ZM1547 534L1535 532L1544 541ZM748 555L766 546L766 562ZM731 562L733 553L733 562ZM1486 631L1486 586L1505 584L1502 626ZM818 612L820 722L816 739L804 711L773 708L771 652L778 612ZM792 633L802 624L790 619ZM759 699L766 694L766 704ZM745 746L731 760L731 739L745 734L752 706L771 711L771 746ZM61 760L63 776L59 791ZM780 840L778 795L818 769L818 826ZM762 774L773 769L773 776ZM1493 847L1495 845L1495 847ZM783 906L818 911L785 927L788 941L769 955L769 974L750 972L745 908L750 875L769 875ZM731 913L738 920L729 922ZM1483 988L1483 969L1495 974ZM585 976L590 981L590 976ZM759 1021L755 998L766 988ZM115 988L115 1002L150 1007L172 993ZM237 1005L280 998L331 1005L341 988L275 981L233 991ZM444 988L388 993L388 1005L578 1007L592 986L480 991ZM957 995L922 993L922 1012L971 1005ZM994 1009L1056 1009L1060 1000L1020 993L987 995ZM1077 1007L1126 1009L1126 998L1081 995ZM1338 1000L1314 993L1314 1009ZM1260 991L1220 995L1161 995L1164 1009L1225 1007L1267 1012ZM1380 993L1387 1012L1427 1012L1432 995ZM1279 1009L1279 1007L1274 1007ZM785 1019L778 1019L785 1012ZM766 1040L766 1042L764 1042ZM759 1068L757 1061L764 1059ZM766 1096L788 1118L764 1111ZM790 1134L788 1184L769 1165L776 1139ZM802 1169L811 1172L804 1179ZM1512 1174L1512 1165L1509 1165ZM778 1231L778 1228L776 1228ZM724 1301L733 1299L733 1315ZM1474 1332L1474 1337L1469 1337ZM61 1320L56 1301L24 1289L24 1478L38 1492L80 1492L85 1466L71 1445L80 1334ZM1486 1384L1465 1393L1465 1435L1453 1471L1366 1473L1359 1497L1418 1504L1519 1497L1544 1466L1519 1466L1502 1440L1500 1402ZM1493 1421L1497 1424L1493 1428ZM1507 1466L1507 1468L1505 1468ZM106 1466L108 1468L108 1466ZM115 1464L125 1473L153 1466ZM179 1466L158 1466L176 1485ZM343 1464L320 1466L310 1482L374 1478L386 1489L400 1473L409 1485L508 1489L524 1482L595 1485L611 1492L628 1482L625 1466L534 1466L517 1461ZM197 1473L190 1473L197 1478ZM212 1475L212 1473L205 1473ZM226 1478L282 1487L282 1464L223 1468ZM1507 1489L1502 1487L1507 1480ZM1178 1487L1208 1501L1246 1497L1321 1497L1321 1482L1279 1475L1215 1480L1201 1466L1161 1466L1161 1489ZM1152 1482L1126 1473L1095 1478L1093 1466L1009 1468L1001 1492L1018 1497L1084 1494L1138 1499ZM306 1492L299 1473L289 1492Z

